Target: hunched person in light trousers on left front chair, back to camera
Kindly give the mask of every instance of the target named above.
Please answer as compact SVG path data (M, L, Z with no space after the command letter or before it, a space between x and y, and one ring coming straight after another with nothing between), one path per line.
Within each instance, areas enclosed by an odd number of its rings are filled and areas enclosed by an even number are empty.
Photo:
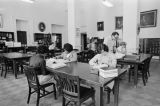
M38 79L40 84L45 84L50 81L53 81L51 75L49 75L49 71L46 70L46 61L44 58L44 50L41 49L41 46L38 47L37 54L33 55L29 60L29 65L32 67L39 67L37 69Z

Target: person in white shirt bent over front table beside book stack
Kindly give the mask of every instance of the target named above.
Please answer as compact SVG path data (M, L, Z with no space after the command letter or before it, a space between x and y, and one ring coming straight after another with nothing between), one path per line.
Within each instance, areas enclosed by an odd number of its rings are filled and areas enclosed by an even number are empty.
M113 53L108 52L108 46L105 44L101 44L101 46L99 47L101 49L101 53L95 55L90 61L89 64L92 66L96 66L96 65L102 65L105 64L108 67L116 67L117 64L117 60L115 58L115 55ZM114 81L112 81L111 83L109 83L107 85L107 87L109 87L110 89L113 88L114 85Z

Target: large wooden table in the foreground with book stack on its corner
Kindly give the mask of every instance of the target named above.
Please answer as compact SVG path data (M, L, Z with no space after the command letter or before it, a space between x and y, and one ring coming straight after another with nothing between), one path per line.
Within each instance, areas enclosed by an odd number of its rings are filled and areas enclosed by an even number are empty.
M59 69L52 69L47 67L47 69L52 71L59 71L59 72L66 72L71 75L79 76L82 81L82 84L92 86L96 90L96 106L104 106L103 104L103 89L108 83L115 81L114 87L114 105L118 106L118 94L119 94L119 77L112 77L112 78L103 78L97 74L91 73L92 68L87 63L80 63L80 62L71 62L67 63L67 66L59 68ZM126 69L119 69L119 76L126 72Z

